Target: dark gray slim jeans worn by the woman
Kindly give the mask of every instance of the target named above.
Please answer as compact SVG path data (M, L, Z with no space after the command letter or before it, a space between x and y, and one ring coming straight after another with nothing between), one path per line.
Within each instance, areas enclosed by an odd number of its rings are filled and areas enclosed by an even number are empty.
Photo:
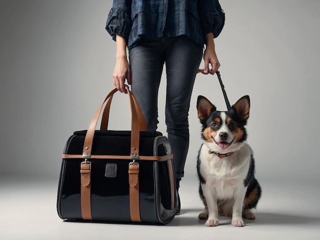
M203 49L186 36L143 38L129 50L131 90L145 116L149 131L158 124L158 89L166 64L166 125L174 155L177 183L184 176L189 148L189 107ZM164 96L161 95L159 101Z

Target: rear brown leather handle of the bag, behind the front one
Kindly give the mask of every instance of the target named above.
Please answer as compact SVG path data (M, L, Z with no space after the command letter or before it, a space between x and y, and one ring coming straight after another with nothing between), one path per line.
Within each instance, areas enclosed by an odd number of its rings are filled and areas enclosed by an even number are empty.
M110 105L111 105L112 97L113 97L113 94L110 96L109 100L106 103L106 106L104 107L102 118L101 118L100 130L108 129L109 113L110 113ZM139 107L139 104L136 101L133 94L132 94L132 99L134 102L136 113L138 113L140 131L147 131L147 124L145 121L145 117L143 116L143 113Z

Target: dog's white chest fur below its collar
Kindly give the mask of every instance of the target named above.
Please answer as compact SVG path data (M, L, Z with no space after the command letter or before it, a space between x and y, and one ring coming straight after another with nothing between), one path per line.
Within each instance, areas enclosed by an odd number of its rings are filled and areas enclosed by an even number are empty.
M250 164L250 147L247 143L229 157L219 158L209 154L204 144L200 150L200 173L205 185L215 191L218 199L230 199L235 191L244 190L244 179Z

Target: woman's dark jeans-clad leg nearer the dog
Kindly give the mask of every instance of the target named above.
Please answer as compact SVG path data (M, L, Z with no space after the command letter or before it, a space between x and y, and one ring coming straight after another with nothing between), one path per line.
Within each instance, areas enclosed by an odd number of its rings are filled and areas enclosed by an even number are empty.
M170 38L166 49L166 125L174 156L177 186L184 176L189 149L189 107L202 46L186 36Z

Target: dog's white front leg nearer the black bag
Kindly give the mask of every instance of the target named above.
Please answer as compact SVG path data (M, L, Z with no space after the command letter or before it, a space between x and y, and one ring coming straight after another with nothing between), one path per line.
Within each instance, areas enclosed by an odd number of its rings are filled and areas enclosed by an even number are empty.
M201 184L203 195L208 206L208 220L205 226L214 227L218 226L218 204L216 189L211 185L208 187L206 184Z

